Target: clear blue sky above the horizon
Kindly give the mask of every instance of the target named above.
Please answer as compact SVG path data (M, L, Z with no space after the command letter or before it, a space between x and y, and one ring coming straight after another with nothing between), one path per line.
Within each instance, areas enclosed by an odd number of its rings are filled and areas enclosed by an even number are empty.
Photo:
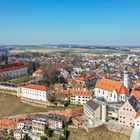
M140 45L140 0L0 0L0 44Z

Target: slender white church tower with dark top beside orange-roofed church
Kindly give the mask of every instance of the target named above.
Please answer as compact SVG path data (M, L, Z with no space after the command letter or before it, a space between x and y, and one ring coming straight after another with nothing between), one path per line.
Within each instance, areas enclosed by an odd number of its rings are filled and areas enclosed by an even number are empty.
M127 67L125 68L124 70L124 76L123 76L123 83L124 83L124 86L129 89L129 86L130 86L130 79L129 79L129 72L128 72L128 69Z

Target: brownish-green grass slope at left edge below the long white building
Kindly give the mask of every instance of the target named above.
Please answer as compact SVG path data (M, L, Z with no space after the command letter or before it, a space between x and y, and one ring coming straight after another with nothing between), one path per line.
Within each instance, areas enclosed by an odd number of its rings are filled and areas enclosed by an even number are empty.
M32 112L46 112L46 108L33 107L20 103L19 98L0 93L0 118Z

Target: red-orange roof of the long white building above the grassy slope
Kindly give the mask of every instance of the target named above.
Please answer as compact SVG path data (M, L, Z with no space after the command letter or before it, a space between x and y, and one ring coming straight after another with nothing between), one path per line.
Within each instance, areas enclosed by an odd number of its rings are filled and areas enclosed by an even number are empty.
M30 88L30 89L41 90L41 91L51 90L50 87L42 86L42 85L35 85L35 84L28 84L28 85L24 86L24 88Z

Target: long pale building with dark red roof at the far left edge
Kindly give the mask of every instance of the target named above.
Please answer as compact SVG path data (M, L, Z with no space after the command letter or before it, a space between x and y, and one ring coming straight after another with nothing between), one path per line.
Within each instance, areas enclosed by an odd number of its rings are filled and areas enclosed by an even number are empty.
M13 79L27 74L27 66L23 63L0 65L0 78Z

